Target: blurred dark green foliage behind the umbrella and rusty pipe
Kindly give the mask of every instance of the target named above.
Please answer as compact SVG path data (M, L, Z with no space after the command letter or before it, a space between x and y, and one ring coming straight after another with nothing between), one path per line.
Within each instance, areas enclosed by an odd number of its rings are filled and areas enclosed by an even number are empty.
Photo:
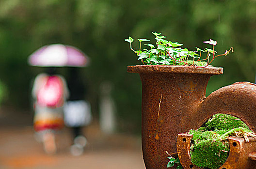
M91 57L81 78L88 80L95 117L99 85L111 81L120 130L139 131L141 82L126 66L141 63L124 39L154 42L152 31L190 50L209 39L218 42L219 53L234 47L212 63L224 74L210 79L207 95L236 81L255 82L256 0L0 0L3 104L29 109L32 79L43 69L28 66L27 57L43 45L64 43ZM65 68L60 72L65 75Z

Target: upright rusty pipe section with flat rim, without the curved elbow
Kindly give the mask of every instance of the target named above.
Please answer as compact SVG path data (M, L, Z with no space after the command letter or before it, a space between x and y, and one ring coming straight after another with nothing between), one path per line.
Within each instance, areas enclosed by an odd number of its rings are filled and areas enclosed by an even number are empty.
M201 124L196 117L210 76L222 68L189 66L128 66L142 81L142 147L147 169L166 169L176 154L176 137Z

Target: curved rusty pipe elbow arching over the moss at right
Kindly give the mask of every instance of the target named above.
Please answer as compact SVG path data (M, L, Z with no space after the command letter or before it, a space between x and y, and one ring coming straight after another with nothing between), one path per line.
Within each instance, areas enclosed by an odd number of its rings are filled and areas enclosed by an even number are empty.
M236 82L212 92L191 117L197 122L193 129L201 127L216 113L236 116L256 132L256 84Z

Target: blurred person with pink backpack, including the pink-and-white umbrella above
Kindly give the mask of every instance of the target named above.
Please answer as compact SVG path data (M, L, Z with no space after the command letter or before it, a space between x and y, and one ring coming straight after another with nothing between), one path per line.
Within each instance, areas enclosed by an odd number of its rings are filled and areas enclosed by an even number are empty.
M88 60L79 49L63 44L43 46L29 56L31 66L47 67L47 73L36 76L32 97L34 130L48 154L57 151L55 132L64 127L64 104L69 97L65 79L56 74L56 67L83 67L88 64Z

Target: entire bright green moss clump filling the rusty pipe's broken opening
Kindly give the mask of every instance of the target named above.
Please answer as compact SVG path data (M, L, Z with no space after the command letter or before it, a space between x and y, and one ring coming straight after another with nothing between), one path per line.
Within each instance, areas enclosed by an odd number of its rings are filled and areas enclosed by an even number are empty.
M227 114L215 114L204 127L190 130L193 135L190 155L200 168L218 169L227 159L231 135L243 136L252 132L240 119Z

